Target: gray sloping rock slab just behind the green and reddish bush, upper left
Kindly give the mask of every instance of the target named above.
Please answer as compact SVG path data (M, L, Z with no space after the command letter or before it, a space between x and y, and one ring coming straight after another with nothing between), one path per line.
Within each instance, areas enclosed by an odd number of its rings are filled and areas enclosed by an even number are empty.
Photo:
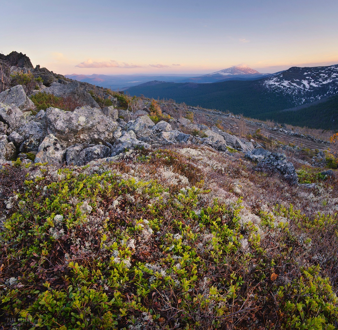
M91 95L81 89L80 83L76 81L72 81L67 85L53 82L49 87L44 89L44 92L53 94L57 97L71 96L74 100L81 102L82 104L90 105L92 108L100 108Z

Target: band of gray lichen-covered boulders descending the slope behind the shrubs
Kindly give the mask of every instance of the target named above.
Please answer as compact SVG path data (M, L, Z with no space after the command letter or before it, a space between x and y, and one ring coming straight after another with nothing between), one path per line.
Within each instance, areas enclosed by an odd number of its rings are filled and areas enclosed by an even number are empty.
M286 180L297 183L297 174L292 163L286 160L286 156L260 151L264 150L262 145L254 140L239 139L213 124L194 124L182 117L169 116L166 121L162 120L155 124L149 117L151 111L147 100L140 100L138 106L131 111L115 109L114 106L101 108L89 94L95 86L56 75L46 68L40 68L39 65L33 69L29 59L22 54L11 53L5 58L8 59L14 64L12 70L20 69L24 72L31 70L34 77L40 77L43 82L40 90L57 97L71 96L83 106L77 107L74 111L50 107L33 115L29 110L34 110L35 106L21 85L3 91L0 94L0 121L3 133L0 156L3 161L28 157L35 162L84 165L96 159L114 160L123 157L126 150L135 148L152 149L174 144L192 144L208 146L226 153L233 150L244 152L248 159L260 162L258 169L279 171ZM22 63L24 66L20 67ZM33 91L32 95L36 92L38 90ZM114 101L113 104L118 105L117 100L112 99L103 90L102 96L109 97ZM188 108L193 111L200 110ZM225 115L219 111L209 113L235 118L231 114ZM240 119L237 116L236 118ZM265 125L248 122L258 126ZM327 143L284 128L268 126L266 128L280 130L290 136ZM201 132L203 137L190 134L192 131ZM273 157L274 161L271 160Z

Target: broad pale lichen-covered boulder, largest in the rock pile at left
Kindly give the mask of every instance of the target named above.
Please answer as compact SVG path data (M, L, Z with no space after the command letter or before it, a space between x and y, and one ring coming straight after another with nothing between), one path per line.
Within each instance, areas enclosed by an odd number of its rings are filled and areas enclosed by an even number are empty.
M67 146L75 143L113 143L116 121L102 114L101 109L84 106L74 111L57 108L46 110L47 133L54 134Z

